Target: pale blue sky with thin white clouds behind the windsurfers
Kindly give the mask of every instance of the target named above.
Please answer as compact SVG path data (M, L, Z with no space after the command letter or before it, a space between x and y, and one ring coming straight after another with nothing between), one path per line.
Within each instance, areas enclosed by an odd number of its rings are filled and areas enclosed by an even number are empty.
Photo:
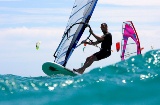
M19 76L45 76L42 64L54 61L67 25L74 0L0 0L0 74ZM106 22L112 33L112 55L94 62L86 71L120 61L115 43L122 39L122 23L131 20L144 47L142 54L159 49L159 0L99 0L89 24L93 32L102 35L100 24ZM88 35L85 30L83 36ZM83 37L82 37L83 38ZM41 41L39 50L36 43ZM99 51L87 46L77 48L68 68L79 68L87 56Z

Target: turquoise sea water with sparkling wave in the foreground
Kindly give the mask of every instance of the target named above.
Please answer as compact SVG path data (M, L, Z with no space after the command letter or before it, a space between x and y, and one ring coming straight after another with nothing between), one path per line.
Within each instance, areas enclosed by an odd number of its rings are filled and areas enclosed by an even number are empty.
M0 75L0 105L160 105L160 50L81 76Z

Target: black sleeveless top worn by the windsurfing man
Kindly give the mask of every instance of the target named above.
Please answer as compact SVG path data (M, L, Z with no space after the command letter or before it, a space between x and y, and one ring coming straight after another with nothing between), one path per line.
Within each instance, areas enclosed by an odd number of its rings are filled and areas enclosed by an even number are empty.
M103 50L111 50L112 46L112 35L111 33L105 33L102 37L104 37L104 40L101 41L101 49Z

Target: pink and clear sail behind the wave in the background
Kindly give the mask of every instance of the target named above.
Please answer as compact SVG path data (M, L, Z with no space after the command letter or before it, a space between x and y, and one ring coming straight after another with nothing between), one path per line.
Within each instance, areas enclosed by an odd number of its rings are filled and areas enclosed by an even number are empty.
M121 42L121 60L141 54L140 41L132 21L123 22Z

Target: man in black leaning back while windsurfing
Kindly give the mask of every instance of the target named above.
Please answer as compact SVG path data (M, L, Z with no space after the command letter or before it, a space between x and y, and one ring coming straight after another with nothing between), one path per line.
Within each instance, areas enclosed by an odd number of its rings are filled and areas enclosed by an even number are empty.
M89 32L97 39L95 42L87 42L83 41L83 43L89 45L97 45L101 43L101 48L99 52L94 53L93 55L87 57L84 65L79 69L73 69L73 71L83 74L85 69L89 67L94 61L99 61L101 59L107 58L111 55L111 46L112 46L112 35L108 32L108 26L106 23L101 24L101 30L103 32L103 36L98 36L93 33L92 29Z

